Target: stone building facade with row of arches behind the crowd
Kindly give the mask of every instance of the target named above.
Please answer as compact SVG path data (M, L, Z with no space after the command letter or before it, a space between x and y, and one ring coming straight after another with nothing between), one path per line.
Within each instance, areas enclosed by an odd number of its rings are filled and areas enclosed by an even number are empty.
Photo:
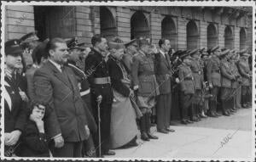
M251 7L6 6L5 39L38 31L41 40L78 36L90 46L94 34L125 42L146 36L157 44L166 37L174 49L220 47L252 52Z

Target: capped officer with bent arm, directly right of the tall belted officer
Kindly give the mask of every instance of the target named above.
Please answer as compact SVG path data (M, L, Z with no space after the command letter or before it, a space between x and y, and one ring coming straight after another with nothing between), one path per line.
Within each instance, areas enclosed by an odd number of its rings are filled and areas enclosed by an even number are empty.
M230 116L234 111L233 107L233 99L232 94L232 81L236 81L236 76L232 74L229 59L229 49L223 49L220 54L220 73L221 73L221 103L222 103L222 113L225 116Z

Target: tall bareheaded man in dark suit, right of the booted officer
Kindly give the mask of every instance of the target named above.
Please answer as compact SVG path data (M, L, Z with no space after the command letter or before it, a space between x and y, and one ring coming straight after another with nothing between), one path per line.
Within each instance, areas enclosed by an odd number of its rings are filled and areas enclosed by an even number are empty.
M155 76L160 91L160 95L156 99L156 124L157 131L168 133L168 131L174 131L169 129L172 107L171 61L168 55L171 47L170 41L160 39L159 47L159 53L155 54Z

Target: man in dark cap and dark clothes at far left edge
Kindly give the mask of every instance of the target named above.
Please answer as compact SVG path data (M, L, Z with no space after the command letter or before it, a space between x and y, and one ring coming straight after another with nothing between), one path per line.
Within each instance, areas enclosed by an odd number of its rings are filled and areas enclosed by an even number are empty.
M19 40L4 44L4 152L11 156L12 148L19 148L20 135L26 124L26 78L17 73L21 67L22 49ZM17 147L15 147L17 146Z

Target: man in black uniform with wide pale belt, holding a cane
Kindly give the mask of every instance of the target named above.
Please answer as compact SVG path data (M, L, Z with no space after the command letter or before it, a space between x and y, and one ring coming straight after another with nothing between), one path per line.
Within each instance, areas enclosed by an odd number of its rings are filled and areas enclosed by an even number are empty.
M94 136L94 142L96 143L96 148L99 148L101 145L102 154L114 155L115 153L109 150L113 91L107 66L108 43L106 38L95 35L91 38L91 44L93 47L85 59L84 72L88 76L90 83L91 107L96 122L99 120L97 103L100 103L101 126L98 126L98 129L101 129L102 138L101 143L99 143L99 138Z

